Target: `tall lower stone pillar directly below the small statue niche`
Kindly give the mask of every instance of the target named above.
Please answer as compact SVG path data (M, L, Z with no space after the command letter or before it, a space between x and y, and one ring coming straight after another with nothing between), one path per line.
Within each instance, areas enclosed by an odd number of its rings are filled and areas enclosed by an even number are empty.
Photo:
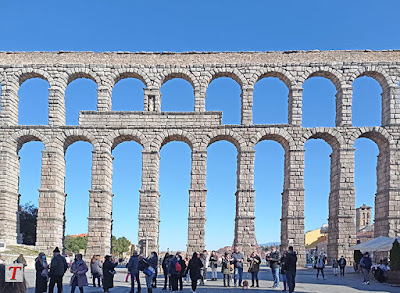
M142 151L142 189L139 203L139 250L149 254L158 251L159 235L159 201L158 186L160 153L158 151ZM148 251L146 250L148 248Z

